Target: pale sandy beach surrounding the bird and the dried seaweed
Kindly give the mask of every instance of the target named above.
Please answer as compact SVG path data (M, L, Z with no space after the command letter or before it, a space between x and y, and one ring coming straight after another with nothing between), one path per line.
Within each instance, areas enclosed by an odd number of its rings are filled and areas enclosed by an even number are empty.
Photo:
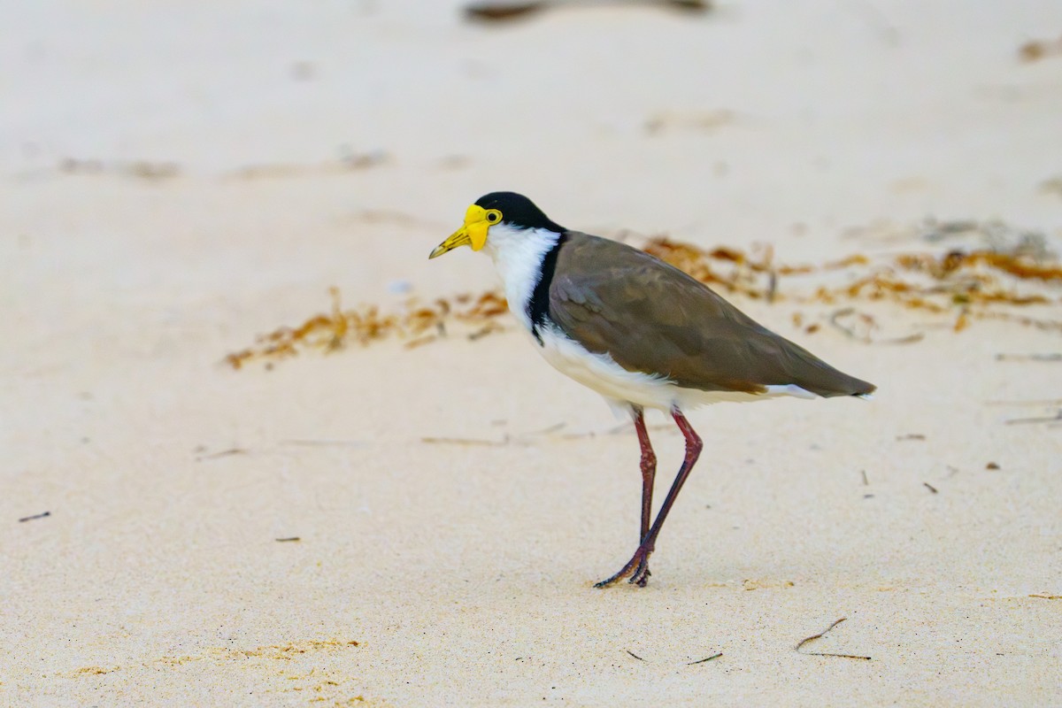
M1062 5L462 7L6 13L0 705L1062 705L1062 279L815 294L1059 266ZM813 266L725 295L878 392L691 412L649 586L597 590L637 439L513 320L226 363L329 288L495 288L427 260L494 190Z

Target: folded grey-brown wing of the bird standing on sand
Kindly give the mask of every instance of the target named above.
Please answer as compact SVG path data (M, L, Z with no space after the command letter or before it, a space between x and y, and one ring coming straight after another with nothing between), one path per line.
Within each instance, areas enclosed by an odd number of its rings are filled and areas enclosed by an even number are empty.
M588 350L684 388L759 393L796 384L820 396L874 391L754 322L706 286L631 246L568 231L549 315Z

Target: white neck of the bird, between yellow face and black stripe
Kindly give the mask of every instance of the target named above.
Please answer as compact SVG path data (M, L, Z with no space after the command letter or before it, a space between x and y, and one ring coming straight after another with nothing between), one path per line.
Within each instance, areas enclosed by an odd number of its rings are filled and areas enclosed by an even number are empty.
M513 228L506 224L492 226L483 251L491 256L501 276L510 311L531 329L528 300L542 278L542 261L560 235L545 228Z

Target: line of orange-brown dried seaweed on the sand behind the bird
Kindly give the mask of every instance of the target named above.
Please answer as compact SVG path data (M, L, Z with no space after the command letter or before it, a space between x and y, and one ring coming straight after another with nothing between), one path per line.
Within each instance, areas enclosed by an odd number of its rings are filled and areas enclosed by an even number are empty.
M967 231L973 228L965 222L962 227ZM954 331L962 331L974 321L997 320L1062 332L1058 314L1062 297L1057 290L1062 287L1062 265L1045 255L1046 251L1039 252L1038 258L1018 246L876 257L855 254L821 264L776 263L769 245L750 252L732 246L704 249L666 237L650 239L645 251L726 294L767 303L837 306L825 323L857 341L909 344L920 341L923 333L874 339L876 320L855 306L891 303L944 317ZM297 327L280 327L263 334L254 345L228 355L226 363L234 368L251 361L271 366L301 351L331 352L390 336L405 340L405 346L412 349L446 338L450 325L464 328L465 336L477 340L503 329L501 315L508 311L506 298L493 290L431 303L411 299L393 312L383 312L375 305L345 309L339 289L329 292L330 312L314 315ZM1054 318L1017 311L1030 307L1048 310ZM820 329L817 323L803 323L803 315L794 313L793 324L804 327L806 333Z

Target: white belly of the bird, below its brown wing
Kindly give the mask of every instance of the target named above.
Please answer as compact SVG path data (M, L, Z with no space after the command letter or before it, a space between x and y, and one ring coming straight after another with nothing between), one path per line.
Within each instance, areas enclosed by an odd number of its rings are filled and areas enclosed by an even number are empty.
M543 345L537 349L546 361L562 374L598 392L613 405L634 403L668 412L673 408L689 410L720 401L754 401L777 396L816 397L792 384L767 386L763 394L682 388L663 376L628 372L609 355L592 353L553 327L543 327L539 333Z

